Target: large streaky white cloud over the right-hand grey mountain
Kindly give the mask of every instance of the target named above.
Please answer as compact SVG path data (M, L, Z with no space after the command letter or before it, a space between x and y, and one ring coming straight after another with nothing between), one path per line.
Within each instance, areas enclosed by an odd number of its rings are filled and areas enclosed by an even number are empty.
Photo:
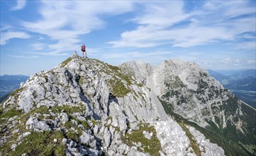
M183 3L147 1L145 13L131 20L138 23L138 28L127 30L120 40L108 43L113 47L147 48L168 44L187 48L221 40L235 41L241 33L255 32L255 15L243 17L255 13L247 1L206 1L201 11L190 13L185 13Z

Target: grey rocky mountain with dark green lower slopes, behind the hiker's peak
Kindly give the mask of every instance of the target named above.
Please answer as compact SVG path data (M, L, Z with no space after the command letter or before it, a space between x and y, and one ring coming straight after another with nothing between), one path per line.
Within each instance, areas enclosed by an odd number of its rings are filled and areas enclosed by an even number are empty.
M239 101L196 63L165 60L152 66L131 61L120 67L152 89L176 121L197 126L208 138L226 146L226 152L239 148L243 154L238 155L256 154L255 109ZM235 148L229 149L225 140L235 142ZM245 153L240 143L252 145L255 151Z

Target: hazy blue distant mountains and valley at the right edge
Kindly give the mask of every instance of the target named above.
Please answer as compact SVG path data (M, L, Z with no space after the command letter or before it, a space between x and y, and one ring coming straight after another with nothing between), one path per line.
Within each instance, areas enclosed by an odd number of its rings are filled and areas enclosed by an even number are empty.
M256 69L245 69L233 74L222 74L209 69L208 73L239 99L256 108Z

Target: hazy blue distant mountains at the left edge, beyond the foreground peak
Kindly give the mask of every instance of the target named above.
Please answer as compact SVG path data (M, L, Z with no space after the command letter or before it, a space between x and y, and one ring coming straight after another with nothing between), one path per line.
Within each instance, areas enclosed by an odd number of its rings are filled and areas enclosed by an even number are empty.
M25 75L8 75L0 76L0 102L5 99L15 89L20 87L21 82L26 82L28 76Z

